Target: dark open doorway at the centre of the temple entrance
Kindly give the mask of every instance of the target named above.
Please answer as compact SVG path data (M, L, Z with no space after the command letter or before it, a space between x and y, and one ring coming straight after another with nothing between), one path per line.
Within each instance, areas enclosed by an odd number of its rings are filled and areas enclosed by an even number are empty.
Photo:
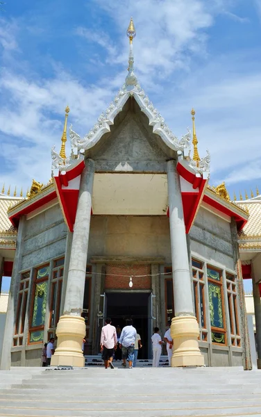
M106 293L107 316L112 319L112 325L121 329L126 325L126 318L133 319L133 326L142 339L142 349L138 359L148 359L148 305L149 293Z

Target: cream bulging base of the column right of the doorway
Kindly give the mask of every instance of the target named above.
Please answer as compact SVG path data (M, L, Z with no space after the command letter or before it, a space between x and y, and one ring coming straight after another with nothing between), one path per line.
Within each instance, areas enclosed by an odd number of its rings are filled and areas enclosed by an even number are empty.
M171 366L204 366L199 350L199 325L194 316L180 316L171 320L174 353Z

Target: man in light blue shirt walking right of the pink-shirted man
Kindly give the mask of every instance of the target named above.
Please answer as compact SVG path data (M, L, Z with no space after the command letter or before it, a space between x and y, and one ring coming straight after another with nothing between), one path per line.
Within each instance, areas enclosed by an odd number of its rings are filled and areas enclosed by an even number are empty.
M126 368L126 359L128 360L128 368L133 368L134 359L134 345L137 336L137 331L133 327L133 320L127 318L126 326L122 329L121 337L119 338L119 347L122 352L122 365Z

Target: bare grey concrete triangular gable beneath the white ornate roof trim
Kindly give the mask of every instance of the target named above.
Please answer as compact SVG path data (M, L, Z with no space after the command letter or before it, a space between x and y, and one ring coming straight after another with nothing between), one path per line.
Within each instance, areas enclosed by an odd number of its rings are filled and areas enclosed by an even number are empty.
M101 145L92 150L96 170L166 172L168 155L148 119L131 103L127 102L124 110Z

